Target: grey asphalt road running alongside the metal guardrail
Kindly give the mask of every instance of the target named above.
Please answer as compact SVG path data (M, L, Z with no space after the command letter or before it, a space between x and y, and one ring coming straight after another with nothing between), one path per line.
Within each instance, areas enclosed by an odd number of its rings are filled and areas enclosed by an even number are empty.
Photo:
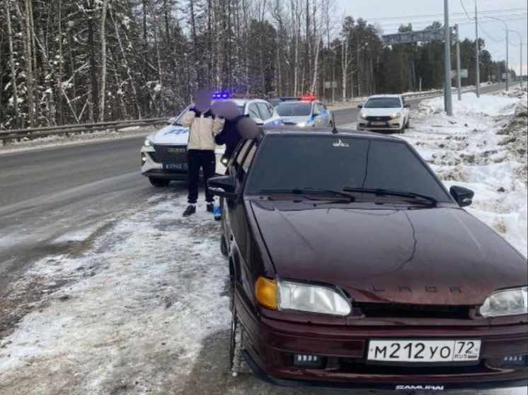
M408 102L415 108L421 100ZM357 111L335 110L336 124L351 126ZM93 226L156 194L139 173L142 141L125 138L0 155L0 295L50 248L66 248L56 242L64 233ZM170 188L180 194L185 184L173 182Z

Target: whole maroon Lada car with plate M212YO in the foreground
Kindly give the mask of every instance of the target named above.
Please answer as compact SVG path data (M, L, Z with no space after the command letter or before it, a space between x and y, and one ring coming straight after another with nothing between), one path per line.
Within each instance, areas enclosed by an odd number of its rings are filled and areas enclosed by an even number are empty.
M527 384L527 261L398 138L264 129L222 196L231 367L280 385Z

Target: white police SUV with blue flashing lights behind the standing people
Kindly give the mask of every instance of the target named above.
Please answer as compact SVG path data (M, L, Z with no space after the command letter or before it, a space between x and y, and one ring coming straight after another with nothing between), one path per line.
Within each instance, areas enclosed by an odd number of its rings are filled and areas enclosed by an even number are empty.
M281 125L283 124L272 105L260 99L229 99L229 94L215 94L214 100L231 100L239 108L239 112L248 115L257 124ZM171 180L187 179L187 143L189 128L181 126L188 106L176 117L171 119L171 124L159 131L149 134L141 148L141 172L149 178L154 187L166 187ZM226 168L221 158L225 147L217 146L217 173L224 174Z

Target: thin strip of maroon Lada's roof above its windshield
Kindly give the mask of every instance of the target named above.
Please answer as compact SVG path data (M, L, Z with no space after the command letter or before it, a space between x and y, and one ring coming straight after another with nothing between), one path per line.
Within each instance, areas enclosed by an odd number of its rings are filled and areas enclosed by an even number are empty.
M372 140L385 140L385 141L398 141L406 143L405 140L395 137L387 136L384 134L374 133L372 131L358 131L355 129L337 129L338 133L332 133L331 128L323 127L310 127L309 129L302 128L299 126L285 125L285 126L262 126L260 128L260 138L269 135L282 135L282 136L333 136L339 137L357 137L357 138L369 138Z

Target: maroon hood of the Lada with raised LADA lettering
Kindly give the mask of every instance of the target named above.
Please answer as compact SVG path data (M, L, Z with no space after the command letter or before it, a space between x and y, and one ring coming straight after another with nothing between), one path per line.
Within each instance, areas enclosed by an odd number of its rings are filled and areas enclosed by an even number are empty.
M277 276L338 285L357 302L481 305L527 282L526 260L459 208L251 206Z

